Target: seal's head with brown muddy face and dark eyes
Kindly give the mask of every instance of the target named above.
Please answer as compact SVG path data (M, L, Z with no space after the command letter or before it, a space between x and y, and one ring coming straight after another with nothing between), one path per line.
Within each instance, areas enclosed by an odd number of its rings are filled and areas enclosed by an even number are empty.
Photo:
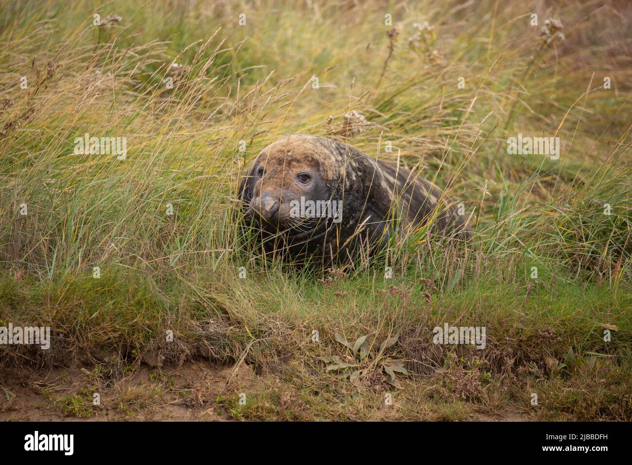
M265 147L240 186L246 214L264 230L289 236L313 232L329 221L305 215L305 202L332 202L342 191L344 164L333 141L289 135Z

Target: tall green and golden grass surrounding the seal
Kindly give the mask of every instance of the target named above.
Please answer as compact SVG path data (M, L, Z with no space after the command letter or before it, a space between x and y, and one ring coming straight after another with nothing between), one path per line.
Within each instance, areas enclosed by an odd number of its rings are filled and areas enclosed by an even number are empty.
M103 350L128 365L247 364L261 379L246 406L217 401L240 419L632 418L628 7L169 8L0 6L0 325L54 337L0 346L1 364L101 366ZM564 37L540 32L547 18ZM125 137L125 159L76 154L85 133ZM262 259L236 190L284 133L414 167L463 203L475 243L422 233L334 271ZM560 158L507 154L518 133L560 137ZM486 349L437 348L446 322L485 326ZM375 340L354 381L319 359L355 360L337 334ZM550 362L569 349L576 366ZM399 388L384 357L406 361Z

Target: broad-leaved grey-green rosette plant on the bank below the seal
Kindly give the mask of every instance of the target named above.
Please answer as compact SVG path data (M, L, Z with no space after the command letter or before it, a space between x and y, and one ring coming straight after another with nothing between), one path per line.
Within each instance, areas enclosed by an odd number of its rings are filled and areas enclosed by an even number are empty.
M384 340L384 342L380 344L379 350L374 352L373 357L370 357L373 343L370 344L368 338L374 334L375 333L371 333L359 337L351 344L343 335L336 333L337 342L347 347L347 349L351 351L351 356L347 355L345 360L339 356L325 356L319 358L328 364L327 371L337 371L338 378L341 380L348 379L352 383L358 380L367 380L370 383L371 375L377 372L384 377L384 381L393 387L399 388L401 384L397 378L397 373L408 375L408 371L404 368L405 362L385 355L386 349L397 344L398 336L389 337Z

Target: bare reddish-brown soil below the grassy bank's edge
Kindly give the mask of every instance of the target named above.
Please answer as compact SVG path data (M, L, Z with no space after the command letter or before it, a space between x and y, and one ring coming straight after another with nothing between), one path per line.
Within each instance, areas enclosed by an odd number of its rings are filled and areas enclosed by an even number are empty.
M121 371L111 379L95 377L83 364L45 371L1 368L0 421L233 421L220 398L258 385L260 377L246 364L217 368L204 360L162 369L143 363L133 374ZM99 406L92 405L94 392ZM79 406L68 399L79 399ZM516 410L474 412L470 419L528 420ZM384 407L371 419L393 421L398 415Z

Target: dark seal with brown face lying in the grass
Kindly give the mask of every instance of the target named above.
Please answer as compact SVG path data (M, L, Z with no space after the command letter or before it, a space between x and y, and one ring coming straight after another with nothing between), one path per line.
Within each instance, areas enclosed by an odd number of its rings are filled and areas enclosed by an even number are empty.
M293 261L353 260L359 247L373 254L398 232L472 237L434 183L317 135L288 135L265 147L239 197L266 254Z

